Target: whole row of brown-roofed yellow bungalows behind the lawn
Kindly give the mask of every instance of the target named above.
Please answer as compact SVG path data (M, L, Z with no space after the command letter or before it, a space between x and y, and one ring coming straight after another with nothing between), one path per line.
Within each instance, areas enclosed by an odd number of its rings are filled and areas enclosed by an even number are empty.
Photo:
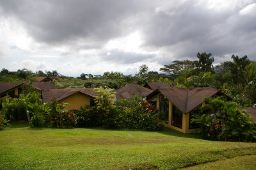
M93 98L97 93L93 88L65 88L55 89L52 78L40 78L38 82L33 82L31 86L42 92L44 102L51 102L56 98L58 103L69 103L66 109L79 109L84 105L92 105ZM0 97L7 93L10 96L18 97L22 82L0 82ZM129 98L132 95L146 97L150 103L159 108L163 113L165 127L173 128L179 132L191 133L199 128L191 123L193 114L198 113L198 109L205 97L225 96L216 88L179 88L168 86L164 82L148 82L145 86L138 84L127 84L127 86L115 89L116 99ZM227 96L225 96L227 97ZM228 98L228 97L227 97ZM256 107L243 108L254 118L256 117Z

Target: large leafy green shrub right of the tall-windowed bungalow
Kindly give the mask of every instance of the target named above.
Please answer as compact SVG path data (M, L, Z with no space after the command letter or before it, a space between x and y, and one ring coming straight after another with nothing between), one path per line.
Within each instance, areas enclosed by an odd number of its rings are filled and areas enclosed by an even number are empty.
M205 98L207 102L202 110L212 114L195 116L192 121L200 123L199 131L205 139L222 141L255 141L256 123L252 116L239 109L234 102L227 102L221 97Z

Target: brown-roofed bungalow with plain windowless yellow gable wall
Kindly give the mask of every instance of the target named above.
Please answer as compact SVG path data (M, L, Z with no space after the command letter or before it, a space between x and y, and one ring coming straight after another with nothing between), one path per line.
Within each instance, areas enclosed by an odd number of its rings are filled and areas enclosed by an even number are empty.
M56 98L59 104L68 103L67 110L80 109L84 105L92 105L93 96L97 95L93 88L65 88L65 89L44 89L42 98L44 102L51 102Z

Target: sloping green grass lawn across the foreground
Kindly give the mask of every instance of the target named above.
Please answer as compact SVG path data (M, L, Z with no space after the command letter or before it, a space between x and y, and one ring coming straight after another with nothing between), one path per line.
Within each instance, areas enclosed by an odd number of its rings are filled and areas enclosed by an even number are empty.
M205 141L170 129L145 132L16 124L0 131L0 169L179 169L197 164L210 169L211 163L204 163L214 161L226 167L245 161L248 164L243 167L250 169L256 166L255 155L256 143Z

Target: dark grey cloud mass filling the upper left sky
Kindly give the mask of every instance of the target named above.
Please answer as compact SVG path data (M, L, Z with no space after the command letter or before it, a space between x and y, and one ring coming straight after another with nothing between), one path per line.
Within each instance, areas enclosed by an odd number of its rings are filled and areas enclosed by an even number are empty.
M135 3L136 2L136 3ZM1 1L3 13L21 20L38 42L77 39L97 44L129 31L129 17L143 8L141 1Z

